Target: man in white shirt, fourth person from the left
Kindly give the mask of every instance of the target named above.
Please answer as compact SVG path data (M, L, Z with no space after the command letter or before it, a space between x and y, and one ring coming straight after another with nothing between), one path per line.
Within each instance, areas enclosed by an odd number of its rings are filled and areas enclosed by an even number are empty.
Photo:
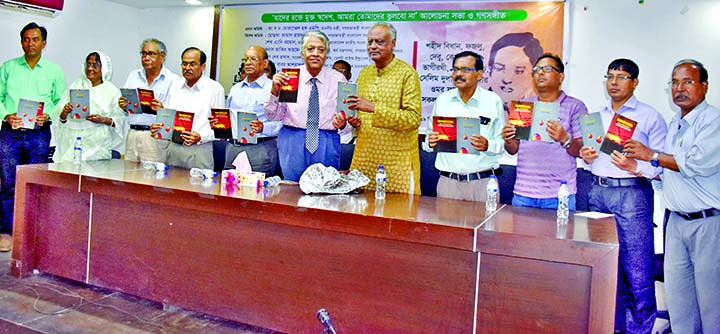
M205 52L189 47L182 53L182 71L185 80L176 80L170 86L167 108L194 114L192 131L183 131L183 144L170 142L165 163L183 168L213 169L212 141L215 139L210 128L210 109L225 106L225 90L215 80L203 76L207 56ZM150 125L155 134L162 123ZM166 125L165 125L166 126Z

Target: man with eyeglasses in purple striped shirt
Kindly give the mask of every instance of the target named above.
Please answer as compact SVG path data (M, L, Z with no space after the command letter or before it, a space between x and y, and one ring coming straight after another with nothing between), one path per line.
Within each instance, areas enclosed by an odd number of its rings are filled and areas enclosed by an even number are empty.
M556 209L557 193L562 181L570 189L569 207L575 210L577 163L582 146L580 116L587 114L585 104L561 90L565 66L560 57L545 53L533 67L533 83L538 95L531 101L560 105L559 119L548 121L547 131L553 142L520 141L515 127L503 127L505 150L517 154L517 177L512 205ZM548 164L548 162L550 162Z

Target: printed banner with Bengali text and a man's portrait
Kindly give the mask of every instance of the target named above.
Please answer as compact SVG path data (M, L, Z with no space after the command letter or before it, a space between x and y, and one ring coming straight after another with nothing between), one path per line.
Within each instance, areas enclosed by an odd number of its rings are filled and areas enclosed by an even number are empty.
M562 55L564 10L562 1L223 6L218 81L230 91L252 45L265 47L278 70L303 66L300 39L307 30L330 38L325 66L343 59L352 65L355 78L370 63L367 31L376 22L389 22L397 29L395 55L420 76L423 132L435 98L454 88L452 58L458 52L484 57L480 85L503 101L534 95L534 61L544 52Z

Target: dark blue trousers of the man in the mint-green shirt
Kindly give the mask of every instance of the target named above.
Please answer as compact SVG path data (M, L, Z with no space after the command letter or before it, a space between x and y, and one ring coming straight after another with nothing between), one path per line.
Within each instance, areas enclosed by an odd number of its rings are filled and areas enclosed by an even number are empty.
M13 130L3 122L0 131L0 233L12 234L15 210L15 168L45 163L50 150L50 126L39 130Z

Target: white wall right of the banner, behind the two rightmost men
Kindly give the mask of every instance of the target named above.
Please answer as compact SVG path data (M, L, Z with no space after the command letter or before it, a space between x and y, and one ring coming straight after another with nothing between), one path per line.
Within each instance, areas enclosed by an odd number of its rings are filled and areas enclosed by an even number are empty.
M578 0L569 3L570 45L565 89L590 111L605 105L602 79L616 58L640 67L636 96L667 120L678 109L667 82L673 65L683 58L701 61L708 69L707 99L720 105L720 1L711 0Z

